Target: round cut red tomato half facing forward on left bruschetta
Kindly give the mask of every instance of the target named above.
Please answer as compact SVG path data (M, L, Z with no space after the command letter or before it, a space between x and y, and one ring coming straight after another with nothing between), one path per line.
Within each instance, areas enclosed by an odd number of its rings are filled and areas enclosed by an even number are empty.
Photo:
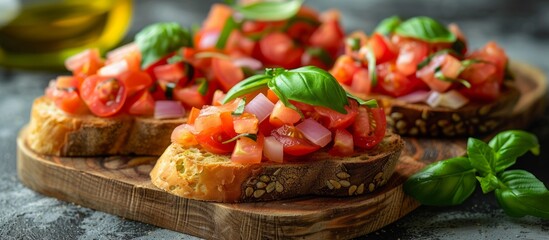
M82 83L80 94L97 116L112 116L122 109L127 97L126 86L116 78L92 75Z

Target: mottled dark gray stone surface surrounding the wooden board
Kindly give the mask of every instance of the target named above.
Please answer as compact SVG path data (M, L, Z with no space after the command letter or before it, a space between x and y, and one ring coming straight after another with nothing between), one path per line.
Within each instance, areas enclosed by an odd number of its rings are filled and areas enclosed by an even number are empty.
M128 36L158 21L183 25L204 19L214 1L144 1L134 3ZM549 1L463 0L314 0L307 4L324 10L339 8L346 30L371 31L385 17L426 15L456 22L478 48L495 40L508 55L549 73ZM16 173L16 137L29 120L34 98L59 72L0 68L0 239L194 239L103 212L45 197L23 186ZM540 139L540 156L519 159L516 168L534 173L549 185L549 114L529 131ZM549 204L549 203L548 203ZM511 218L492 194L480 190L456 207L419 207L395 223L375 231L371 239L548 239L549 221Z

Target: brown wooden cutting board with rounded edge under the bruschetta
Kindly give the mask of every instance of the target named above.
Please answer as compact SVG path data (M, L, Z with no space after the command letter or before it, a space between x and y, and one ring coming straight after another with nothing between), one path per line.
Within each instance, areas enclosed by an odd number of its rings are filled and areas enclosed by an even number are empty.
M521 99L512 128L543 113L547 80L513 63ZM38 155L17 139L17 171L29 188L63 201L208 239L347 239L380 229L419 206L402 184L430 162L465 153L465 139L405 138L395 173L377 191L352 198L304 197L222 204L177 197L150 183L154 157L62 158Z

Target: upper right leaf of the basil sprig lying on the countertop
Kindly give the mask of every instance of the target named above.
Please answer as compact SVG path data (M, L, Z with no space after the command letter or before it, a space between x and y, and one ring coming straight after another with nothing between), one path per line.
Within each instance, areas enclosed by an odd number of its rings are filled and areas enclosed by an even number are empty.
M494 149L495 171L499 173L515 164L517 157L531 151L538 155L540 146L538 138L529 132L521 130L508 130L498 133L488 145Z

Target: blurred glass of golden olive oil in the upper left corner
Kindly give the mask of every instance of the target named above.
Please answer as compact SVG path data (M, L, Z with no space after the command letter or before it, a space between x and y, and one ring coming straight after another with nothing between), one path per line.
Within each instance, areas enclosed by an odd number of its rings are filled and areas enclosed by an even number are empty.
M132 15L131 0L23 1L20 6L0 26L5 67L60 69L67 57L86 48L105 52L124 37Z

